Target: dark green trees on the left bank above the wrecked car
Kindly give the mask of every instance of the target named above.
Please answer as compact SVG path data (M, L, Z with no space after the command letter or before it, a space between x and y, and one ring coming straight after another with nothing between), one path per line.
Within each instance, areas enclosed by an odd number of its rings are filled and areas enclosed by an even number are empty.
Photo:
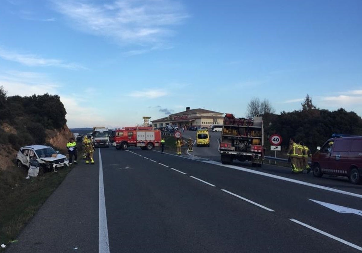
M0 125L8 124L16 133L0 128L0 143L14 149L22 145L45 144L46 129L59 129L66 123L66 110L58 95L7 97L0 86Z

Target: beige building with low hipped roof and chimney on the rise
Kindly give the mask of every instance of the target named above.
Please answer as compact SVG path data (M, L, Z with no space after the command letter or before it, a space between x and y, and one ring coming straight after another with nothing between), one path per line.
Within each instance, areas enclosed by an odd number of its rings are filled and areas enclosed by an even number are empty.
M207 127L212 125L222 125L224 113L209 111L205 109L191 109L186 107L186 111L170 114L157 120L152 120L152 126L155 128L167 127L168 125L176 125L179 128L186 129L188 127Z

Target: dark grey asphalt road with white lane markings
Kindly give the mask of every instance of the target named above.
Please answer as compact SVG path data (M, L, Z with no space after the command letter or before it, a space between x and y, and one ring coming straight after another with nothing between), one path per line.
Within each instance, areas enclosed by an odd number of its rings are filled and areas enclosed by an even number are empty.
M192 155L97 149L7 252L362 251L361 185L222 165L217 134Z

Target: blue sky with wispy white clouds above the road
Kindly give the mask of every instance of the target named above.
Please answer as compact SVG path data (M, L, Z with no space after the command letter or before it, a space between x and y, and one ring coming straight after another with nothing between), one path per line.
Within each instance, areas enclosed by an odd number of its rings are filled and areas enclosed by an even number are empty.
M362 1L2 0L0 86L57 94L70 128L191 109L362 116Z

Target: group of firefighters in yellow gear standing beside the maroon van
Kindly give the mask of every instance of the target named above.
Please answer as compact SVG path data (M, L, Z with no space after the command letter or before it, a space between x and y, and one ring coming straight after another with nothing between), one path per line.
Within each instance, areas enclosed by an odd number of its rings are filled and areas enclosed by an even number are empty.
M290 138L287 154L289 156L288 160L292 168L292 173L303 173L303 170L306 170L307 173L311 171L308 157L311 157L312 154L310 149L305 146L302 141L297 144L294 142L294 138Z

